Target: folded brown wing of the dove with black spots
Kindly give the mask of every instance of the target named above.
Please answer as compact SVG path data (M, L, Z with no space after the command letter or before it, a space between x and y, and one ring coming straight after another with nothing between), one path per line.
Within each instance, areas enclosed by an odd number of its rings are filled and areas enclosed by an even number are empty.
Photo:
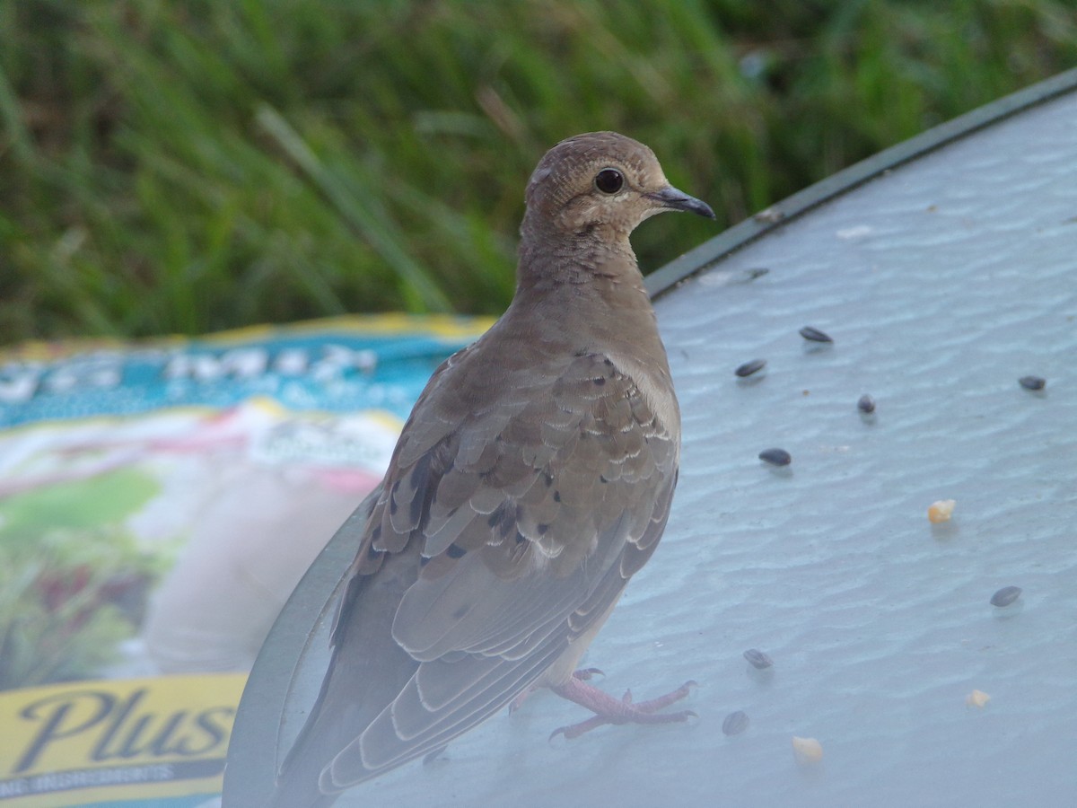
M540 680L665 528L677 442L631 378L602 354L535 368L507 351L461 384L478 347L431 381L373 503L316 707L337 724L318 733L338 744L326 792L444 747Z

